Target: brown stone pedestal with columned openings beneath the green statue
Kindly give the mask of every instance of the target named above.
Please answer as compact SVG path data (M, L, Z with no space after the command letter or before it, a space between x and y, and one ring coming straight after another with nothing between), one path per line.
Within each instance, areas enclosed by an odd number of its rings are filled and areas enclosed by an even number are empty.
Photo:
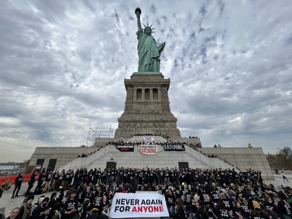
M130 138L136 133L150 134L149 131L181 138L177 119L169 106L170 79L164 79L160 72L135 72L124 83L127 91L125 110L118 119L115 138Z

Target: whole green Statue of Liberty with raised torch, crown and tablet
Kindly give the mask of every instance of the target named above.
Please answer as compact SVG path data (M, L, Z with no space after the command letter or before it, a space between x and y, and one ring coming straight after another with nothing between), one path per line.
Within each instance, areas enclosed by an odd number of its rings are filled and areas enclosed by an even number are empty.
M141 9L136 8L135 10L137 16L137 25L138 31L138 72L159 72L160 64L160 53L163 51L165 42L157 46L156 41L151 33L153 29L152 25L149 27L147 22L147 27L144 25L145 29L143 30L140 22Z

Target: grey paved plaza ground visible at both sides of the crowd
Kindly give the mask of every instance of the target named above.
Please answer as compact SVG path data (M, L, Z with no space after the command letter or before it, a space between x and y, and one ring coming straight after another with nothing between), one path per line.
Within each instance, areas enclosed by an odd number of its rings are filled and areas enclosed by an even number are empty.
M279 171L280 172L280 171ZM273 171L274 173L274 171ZM281 174L281 172L280 172ZM292 187L292 171L285 171L285 175L287 177L287 179L289 180L289 182L287 181L283 181L283 177L281 175L275 175L274 174L274 178L275 180L265 180L265 184L273 184L276 188L278 185L284 185L284 186L290 186ZM27 183L22 183L20 191L19 191L19 195L23 194L26 190L27 190ZM32 188L32 190L34 190L35 186ZM11 188L7 191L3 192L2 197L0 198L0 208L5 207L5 218L9 216L10 212L12 211L13 208L15 207L20 207L22 205L22 201L23 199L25 199L24 196L20 196L14 199L11 199L12 196L12 192L14 189L14 185L11 185ZM44 195L46 197L51 197L51 194L53 192L46 192L44 193ZM32 202L32 204L37 202L37 199L40 197L41 195L35 195L34 196L34 201Z

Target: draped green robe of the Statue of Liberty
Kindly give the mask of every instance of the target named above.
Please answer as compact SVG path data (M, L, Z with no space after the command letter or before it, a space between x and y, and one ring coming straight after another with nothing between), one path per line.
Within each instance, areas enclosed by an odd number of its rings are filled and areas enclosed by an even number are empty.
M137 31L138 39L138 72L159 72L160 53L153 36L147 35L140 28Z

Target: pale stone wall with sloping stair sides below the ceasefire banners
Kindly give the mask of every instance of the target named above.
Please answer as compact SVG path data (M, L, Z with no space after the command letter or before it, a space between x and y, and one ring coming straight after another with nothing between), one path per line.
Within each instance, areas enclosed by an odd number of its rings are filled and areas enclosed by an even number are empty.
M188 162L190 168L234 168L218 158L209 158L188 145L185 145L184 152L166 152L159 146L157 154L154 155L142 154L138 147L134 148L134 152L120 152L114 145L107 145L98 152L88 157L76 158L59 167L59 169L76 170L82 167L103 169L106 167L107 161L117 162L117 168L121 166L130 168L143 168L146 166L149 168L174 168L175 166L178 167L178 162Z

